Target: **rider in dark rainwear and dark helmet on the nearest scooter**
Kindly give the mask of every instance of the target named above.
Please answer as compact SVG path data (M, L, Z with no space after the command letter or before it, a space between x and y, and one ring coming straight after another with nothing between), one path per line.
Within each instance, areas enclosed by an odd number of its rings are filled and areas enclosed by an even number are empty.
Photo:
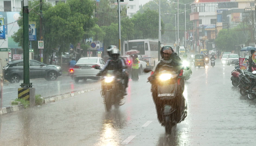
M155 76L157 76L159 69L163 67L163 65L169 65L174 67L174 71L178 72L180 76L182 76L183 70L182 70L182 61L180 57L178 57L177 53L175 53L172 49L171 46L163 46L161 48L161 57L162 59L155 65L153 68L153 74L148 77L148 81L153 80ZM153 100L155 102L156 110L157 110L157 115L158 115L158 120L160 123L163 123L163 115L162 115L162 104L160 100L158 100L158 95L157 95L157 83L152 83L151 85L151 92L153 96ZM178 113L181 114L181 110L184 108L182 106L185 101L184 96L182 95L184 91L184 79L180 78L180 81L178 82L178 91L180 91L180 97L181 98L180 103L177 103L177 109L179 110ZM181 116L181 115L178 116Z

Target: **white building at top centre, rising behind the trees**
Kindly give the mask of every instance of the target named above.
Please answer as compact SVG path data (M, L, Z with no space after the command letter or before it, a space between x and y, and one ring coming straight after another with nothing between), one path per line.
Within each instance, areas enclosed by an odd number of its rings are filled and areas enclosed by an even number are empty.
M114 4L117 5L117 2ZM133 0L133 1L124 0L124 2L120 2L120 5L127 7L127 16L129 17L131 17L137 11L139 11L139 0Z

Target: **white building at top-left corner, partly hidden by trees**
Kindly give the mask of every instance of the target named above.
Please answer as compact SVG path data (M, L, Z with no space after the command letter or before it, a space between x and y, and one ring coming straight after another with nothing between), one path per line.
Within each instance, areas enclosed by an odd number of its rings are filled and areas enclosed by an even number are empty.
M29 0L34 1L34 0ZM38 0L39 1L39 0ZM66 2L67 0L45 0L46 2L56 5L60 1ZM23 0L0 0L0 12L17 12L23 6Z

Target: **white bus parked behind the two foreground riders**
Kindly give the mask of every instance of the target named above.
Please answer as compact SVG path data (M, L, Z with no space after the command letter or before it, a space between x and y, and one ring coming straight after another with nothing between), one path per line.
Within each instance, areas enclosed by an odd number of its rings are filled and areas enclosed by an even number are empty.
M138 50L148 66L154 66L158 62L158 41L148 39L133 39L124 41L123 53L129 50Z

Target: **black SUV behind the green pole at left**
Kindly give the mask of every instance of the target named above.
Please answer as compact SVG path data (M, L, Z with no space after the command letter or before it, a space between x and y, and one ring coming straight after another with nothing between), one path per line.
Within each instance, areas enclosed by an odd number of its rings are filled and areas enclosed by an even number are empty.
M30 60L29 77L30 78L45 78L49 81L54 81L58 76L61 76L62 70L57 65L46 65L36 60ZM4 66L4 79L10 83L18 83L23 79L23 60L9 62Z

